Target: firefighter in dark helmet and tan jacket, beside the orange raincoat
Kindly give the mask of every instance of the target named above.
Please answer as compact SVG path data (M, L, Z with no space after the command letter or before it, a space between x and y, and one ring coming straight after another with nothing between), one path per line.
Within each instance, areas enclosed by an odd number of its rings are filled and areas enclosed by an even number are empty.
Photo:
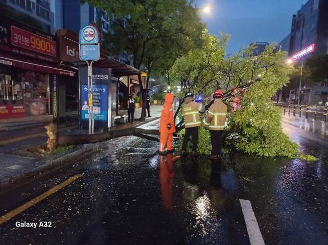
M185 127L185 135L182 142L182 154L185 154L190 135L192 136L192 153L197 153L198 127L201 125L199 113L204 112L205 109L202 105L193 101L193 94L186 93L182 105Z

